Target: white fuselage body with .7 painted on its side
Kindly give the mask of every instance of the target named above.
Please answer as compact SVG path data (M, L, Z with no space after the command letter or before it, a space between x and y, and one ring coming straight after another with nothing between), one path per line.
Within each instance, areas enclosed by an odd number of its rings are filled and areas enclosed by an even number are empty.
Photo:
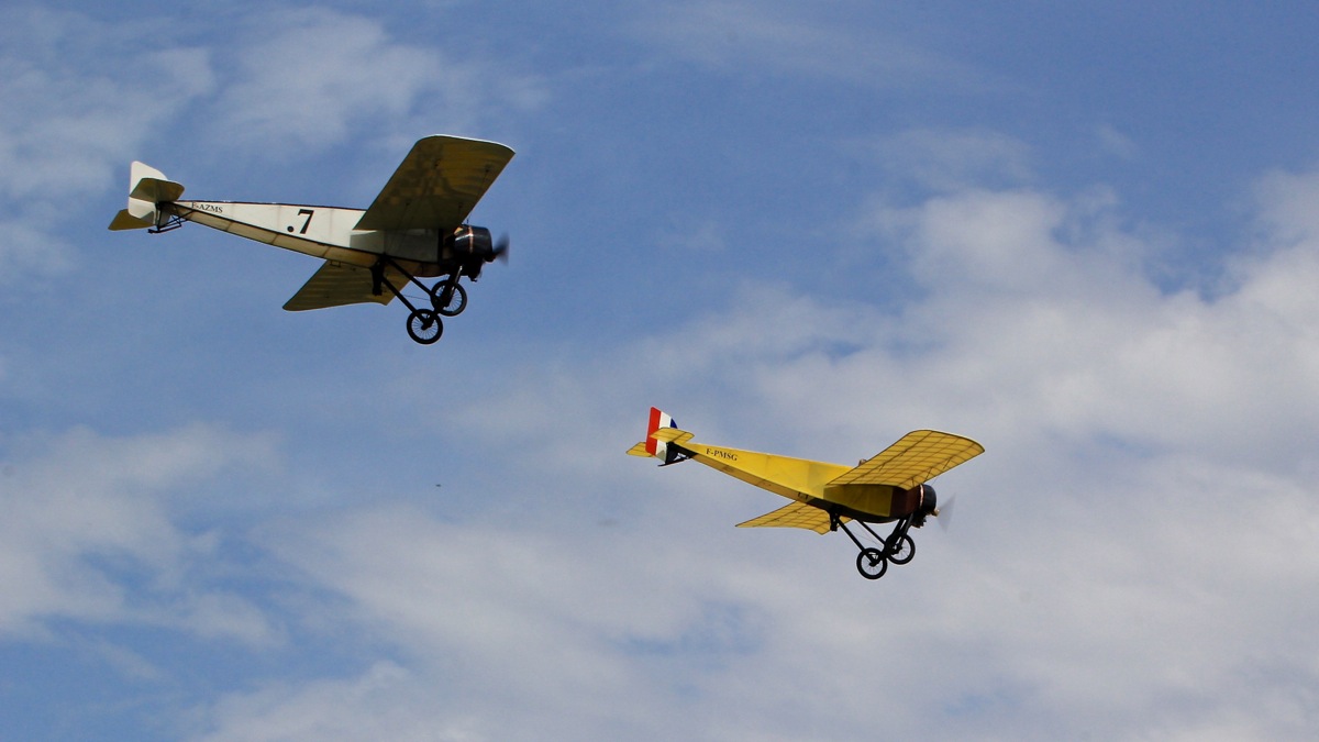
M353 228L361 219L361 209L233 201L175 201L161 203L161 209L256 242L364 268L386 255L415 276L435 276L443 257L442 238L435 230Z

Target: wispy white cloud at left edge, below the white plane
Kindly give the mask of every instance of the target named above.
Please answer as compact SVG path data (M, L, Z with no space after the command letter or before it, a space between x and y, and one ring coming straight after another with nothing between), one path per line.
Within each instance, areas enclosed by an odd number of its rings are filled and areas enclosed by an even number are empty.
M214 539L175 519L178 490L269 466L270 441L194 425L156 436L88 429L9 441L0 478L0 634L49 619L170 626L251 643L272 630L251 602L197 584Z

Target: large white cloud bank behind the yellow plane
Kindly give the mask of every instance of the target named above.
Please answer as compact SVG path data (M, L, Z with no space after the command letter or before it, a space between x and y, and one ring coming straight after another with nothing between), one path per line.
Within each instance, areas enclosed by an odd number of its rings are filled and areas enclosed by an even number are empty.
M671 334L506 379L532 417L450 409L517 452L488 498L534 528L371 508L268 543L408 658L402 685L443 689L409 713L471 738L787 739L876 717L917 737L1303 738L1319 240L1277 203L1289 239L1213 298L1159 290L1111 199L878 205L909 251L901 316L748 285ZM620 404L645 399L677 400L698 438L787 454L848 461L926 425L988 453L940 479L963 495L952 533L869 584L839 536L731 528L774 498L623 455L644 407Z

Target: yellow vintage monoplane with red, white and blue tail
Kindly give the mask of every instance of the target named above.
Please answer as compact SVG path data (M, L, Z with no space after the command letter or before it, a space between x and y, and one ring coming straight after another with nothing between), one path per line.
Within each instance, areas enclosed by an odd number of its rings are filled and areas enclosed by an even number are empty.
M934 487L926 482L985 450L962 436L913 430L873 458L864 459L857 466L844 466L698 444L692 437L678 429L673 417L652 407L646 440L632 446L628 453L656 457L663 462L660 466L699 461L729 477L794 500L773 512L739 523L737 527L806 528L816 533L842 528L860 549L856 569L869 580L884 577L889 562L911 561L915 543L907 531L925 525L929 516L939 516ZM863 544L847 527L849 520L860 523L884 548ZM881 537L871 528L871 523L894 525L888 537Z

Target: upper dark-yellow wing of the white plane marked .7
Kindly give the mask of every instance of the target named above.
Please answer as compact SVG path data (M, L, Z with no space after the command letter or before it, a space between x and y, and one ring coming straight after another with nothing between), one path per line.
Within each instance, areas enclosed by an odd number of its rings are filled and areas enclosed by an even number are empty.
M394 170L359 230L454 230L513 158L503 144L427 136Z

